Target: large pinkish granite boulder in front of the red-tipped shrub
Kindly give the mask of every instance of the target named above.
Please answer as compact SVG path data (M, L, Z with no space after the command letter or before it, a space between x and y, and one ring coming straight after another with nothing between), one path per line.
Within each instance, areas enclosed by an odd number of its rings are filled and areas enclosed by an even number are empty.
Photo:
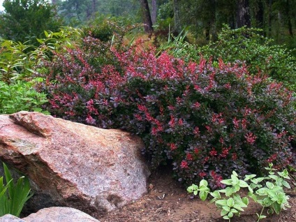
M31 180L35 212L59 205L95 216L137 200L149 177L142 147L120 130L38 112L0 115L0 158Z

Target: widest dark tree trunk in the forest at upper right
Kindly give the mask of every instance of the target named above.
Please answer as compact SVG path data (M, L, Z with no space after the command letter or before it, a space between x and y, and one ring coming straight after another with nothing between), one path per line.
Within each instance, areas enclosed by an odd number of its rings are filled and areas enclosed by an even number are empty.
M237 28L251 27L249 0L237 1Z

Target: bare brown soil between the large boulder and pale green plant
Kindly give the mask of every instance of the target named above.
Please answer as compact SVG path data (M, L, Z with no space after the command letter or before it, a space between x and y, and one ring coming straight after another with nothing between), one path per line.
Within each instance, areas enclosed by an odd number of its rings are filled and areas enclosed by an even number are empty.
M140 200L126 207L117 209L105 216L99 217L101 222L220 222L220 212L208 200L202 202L199 198L191 199L186 188L172 179L168 168L161 168L152 173L149 178L149 192ZM295 175L294 175L295 176ZM293 222L296 221L296 190L290 195L290 209L279 215L269 215L261 222ZM261 207L251 202L240 217L232 219L236 222L257 221L256 212ZM266 214L265 214L266 215Z

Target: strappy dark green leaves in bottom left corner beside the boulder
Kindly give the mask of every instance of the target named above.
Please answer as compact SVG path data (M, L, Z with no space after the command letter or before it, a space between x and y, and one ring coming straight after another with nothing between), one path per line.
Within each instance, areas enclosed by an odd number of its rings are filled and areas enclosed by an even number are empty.
M29 179L22 176L15 184L5 163L3 169L6 184L3 183L3 177L0 177L0 216L5 214L20 216L25 202L33 195Z

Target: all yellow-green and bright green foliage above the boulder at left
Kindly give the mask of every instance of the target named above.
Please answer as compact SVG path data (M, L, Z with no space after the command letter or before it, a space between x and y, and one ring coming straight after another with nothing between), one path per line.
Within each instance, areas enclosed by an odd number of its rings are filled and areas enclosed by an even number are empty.
M46 95L34 89L40 79L31 77L43 71L43 60L50 60L52 52L59 52L66 45L75 45L82 31L64 28L59 32L45 31L45 38L38 39L40 47L3 40L0 47L0 114L21 110L43 112ZM48 113L48 112L45 112Z

